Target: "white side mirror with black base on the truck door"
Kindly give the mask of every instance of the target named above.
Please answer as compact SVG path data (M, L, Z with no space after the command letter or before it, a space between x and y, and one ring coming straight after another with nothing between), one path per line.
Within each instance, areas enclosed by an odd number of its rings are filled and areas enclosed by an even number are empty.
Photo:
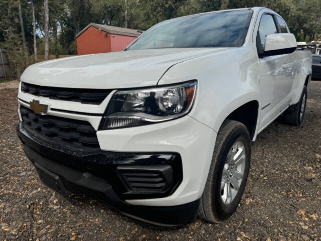
M293 34L270 34L266 36L262 56L290 54L296 50Z

